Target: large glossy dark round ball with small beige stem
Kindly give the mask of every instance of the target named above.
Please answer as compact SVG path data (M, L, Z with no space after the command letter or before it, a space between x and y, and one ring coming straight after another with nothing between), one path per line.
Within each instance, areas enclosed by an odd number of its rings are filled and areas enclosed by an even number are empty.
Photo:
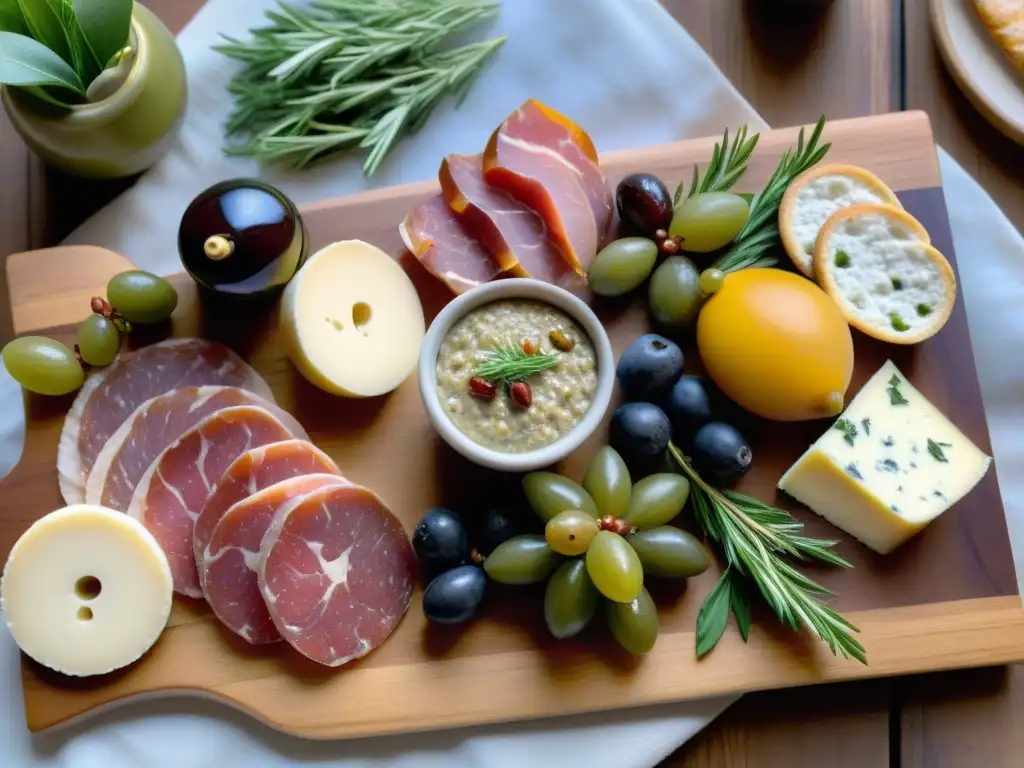
M178 253L200 286L230 296L283 289L309 255L309 236L285 195L255 179L214 184L185 209Z

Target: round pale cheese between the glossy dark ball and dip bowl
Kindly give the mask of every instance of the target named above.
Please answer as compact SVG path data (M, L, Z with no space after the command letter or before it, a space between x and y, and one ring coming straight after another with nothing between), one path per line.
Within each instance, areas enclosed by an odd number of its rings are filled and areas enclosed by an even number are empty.
M413 372L426 326L398 262L348 240L317 251L288 284L281 330L289 357L311 384L373 397Z

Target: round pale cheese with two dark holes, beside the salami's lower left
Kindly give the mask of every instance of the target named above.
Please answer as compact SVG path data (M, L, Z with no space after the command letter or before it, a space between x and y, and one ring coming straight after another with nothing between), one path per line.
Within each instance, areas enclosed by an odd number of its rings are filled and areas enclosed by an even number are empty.
M140 522L76 504L14 544L0 605L14 642L65 675L102 675L138 659L171 613L167 557Z

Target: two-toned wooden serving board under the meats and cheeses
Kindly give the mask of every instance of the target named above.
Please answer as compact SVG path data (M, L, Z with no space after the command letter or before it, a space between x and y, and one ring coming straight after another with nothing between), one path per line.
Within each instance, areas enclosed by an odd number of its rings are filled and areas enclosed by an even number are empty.
M825 136L833 142L828 161L859 164L879 174L953 260L924 114L836 122ZM795 129L762 135L741 189L759 188L796 137ZM602 167L612 182L645 170L674 185L689 177L694 163L707 162L713 142L620 153L604 158ZM450 296L403 252L396 225L435 189L433 182L383 189L309 206L303 215L316 248L359 238L400 258L430 321ZM116 254L81 247L10 256L15 331L71 342L75 324L88 312L89 297L102 293L108 279L129 266ZM415 376L389 396L349 400L327 395L306 384L283 356L272 305L224 311L205 306L184 275L171 280L181 295L173 333L223 341L250 359L278 401L346 476L381 494L409 531L431 506L452 506L472 517L488 503L517 498L517 477L470 465L436 436ZM649 329L644 303L639 295L631 302L596 305L616 354ZM858 335L851 395L889 356L972 440L991 451L962 299L941 334L916 347L887 346ZM691 353L688 370L695 366ZM33 520L61 506L56 445L70 402L70 397L26 399L25 453L0 485L0 557ZM539 589L496 588L484 615L462 628L429 625L417 595L379 650L340 670L307 662L283 643L250 647L223 630L204 604L176 598L170 626L156 647L120 673L69 680L26 659L29 728L54 726L136 694L185 691L212 695L302 736L364 736L1024 660L1024 610L996 481L997 458L995 469L965 501L883 557L775 490L782 471L827 423L779 425L748 418L740 424L756 457L740 489L794 509L811 535L842 540L839 551L853 569L810 570L838 593L836 606L860 628L869 666L834 657L822 643L781 628L764 610L756 614L749 643L730 626L719 646L696 662L696 612L718 568L686 586L653 585L662 634L646 657L618 649L601 622L579 638L552 639L544 627ZM579 479L604 439L605 431L599 430L560 471Z

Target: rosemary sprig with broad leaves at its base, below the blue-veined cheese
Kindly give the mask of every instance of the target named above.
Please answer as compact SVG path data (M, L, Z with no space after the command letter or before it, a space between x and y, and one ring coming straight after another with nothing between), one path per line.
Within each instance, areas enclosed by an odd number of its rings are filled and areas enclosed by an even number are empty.
M833 593L783 559L813 559L851 567L833 552L837 542L801 536L804 524L783 510L743 494L716 490L671 442L669 454L690 479L690 498L697 522L722 546L728 564L697 616L697 655L715 647L725 631L730 609L745 639L750 606L742 585L749 580L757 585L782 624L795 631L809 630L833 653L867 664L864 647L851 634L859 630L820 600Z

